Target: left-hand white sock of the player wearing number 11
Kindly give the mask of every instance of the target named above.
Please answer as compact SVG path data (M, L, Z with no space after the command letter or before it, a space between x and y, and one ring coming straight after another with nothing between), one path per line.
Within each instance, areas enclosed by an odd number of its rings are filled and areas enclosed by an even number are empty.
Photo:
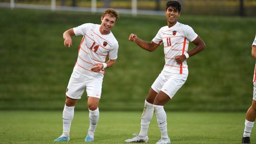
M145 137L147 135L147 129L154 114L153 104L150 104L145 100L144 110L141 116L141 128L139 136Z

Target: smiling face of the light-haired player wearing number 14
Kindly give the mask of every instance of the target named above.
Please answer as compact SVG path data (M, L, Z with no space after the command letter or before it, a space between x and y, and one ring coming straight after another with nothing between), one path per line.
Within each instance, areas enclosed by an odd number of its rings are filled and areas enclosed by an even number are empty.
M102 35L107 35L110 33L111 28L115 25L116 18L111 17L110 14L101 17L101 24L99 27L100 33Z

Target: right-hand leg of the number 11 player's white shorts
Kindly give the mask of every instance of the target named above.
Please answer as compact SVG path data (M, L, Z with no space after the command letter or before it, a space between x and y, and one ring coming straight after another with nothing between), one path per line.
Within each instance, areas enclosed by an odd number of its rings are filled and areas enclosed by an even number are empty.
M188 74L173 73L161 88L161 91L172 98L187 80Z

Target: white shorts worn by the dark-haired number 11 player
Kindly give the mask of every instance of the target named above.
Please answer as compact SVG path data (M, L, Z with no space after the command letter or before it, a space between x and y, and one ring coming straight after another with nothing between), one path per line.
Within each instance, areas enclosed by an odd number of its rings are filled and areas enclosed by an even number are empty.
M152 84L151 88L156 91L164 92L170 98L172 98L175 93L182 87L186 82L188 74L177 74L171 72L162 71L155 82Z

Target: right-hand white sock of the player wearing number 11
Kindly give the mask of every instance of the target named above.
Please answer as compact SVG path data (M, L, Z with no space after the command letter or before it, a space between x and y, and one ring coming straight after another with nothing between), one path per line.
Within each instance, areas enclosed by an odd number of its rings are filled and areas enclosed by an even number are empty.
M155 108L155 113L157 115L158 127L161 131L162 138L168 138L167 134L167 121L166 113L164 111L164 106L153 105Z

